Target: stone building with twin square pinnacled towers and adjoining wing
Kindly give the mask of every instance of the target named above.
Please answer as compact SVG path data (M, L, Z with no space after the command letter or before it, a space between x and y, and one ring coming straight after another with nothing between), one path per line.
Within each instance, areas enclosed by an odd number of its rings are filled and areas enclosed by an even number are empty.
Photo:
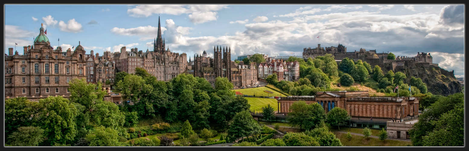
M254 62L245 65L243 61L240 63L231 61L231 48L229 47L219 48L217 45L213 47L213 52L213 59L207 57L205 51L200 56L194 54L194 64L191 67L194 70L194 76L205 78L212 86L215 86L216 77L227 77L235 88L257 83L257 70Z

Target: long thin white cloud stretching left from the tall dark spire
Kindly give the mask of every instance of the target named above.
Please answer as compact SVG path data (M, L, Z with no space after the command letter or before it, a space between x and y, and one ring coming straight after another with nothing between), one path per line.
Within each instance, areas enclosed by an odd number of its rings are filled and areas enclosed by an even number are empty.
M166 30L166 28L161 27L161 34ZM124 28L117 28L114 27L111 29L111 32L119 35L124 35L124 36L134 36L134 35L151 35L155 36L158 34L158 27L152 27L150 25L148 26L140 26L136 28L129 28L129 29L124 29Z

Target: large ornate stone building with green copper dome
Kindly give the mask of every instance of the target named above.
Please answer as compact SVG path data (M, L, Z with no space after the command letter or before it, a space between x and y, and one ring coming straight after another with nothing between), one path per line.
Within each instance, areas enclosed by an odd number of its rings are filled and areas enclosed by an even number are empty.
M75 50L53 48L41 25L34 45L23 47L23 55L9 48L5 56L6 98L27 97L37 101L49 96L68 98L68 83L74 78L87 78L88 61L83 46Z

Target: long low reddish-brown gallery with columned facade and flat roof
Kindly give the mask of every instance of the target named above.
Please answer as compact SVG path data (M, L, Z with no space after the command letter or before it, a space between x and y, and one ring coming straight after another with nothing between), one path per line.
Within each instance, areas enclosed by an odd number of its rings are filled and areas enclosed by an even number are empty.
M318 91L316 96L290 96L277 100L280 113L289 113L295 101L319 103L329 112L334 107L346 109L352 117L402 119L418 115L418 98L369 97L368 91Z

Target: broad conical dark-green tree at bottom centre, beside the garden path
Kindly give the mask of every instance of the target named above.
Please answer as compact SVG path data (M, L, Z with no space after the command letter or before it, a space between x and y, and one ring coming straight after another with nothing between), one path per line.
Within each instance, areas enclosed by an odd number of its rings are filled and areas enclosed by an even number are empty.
M260 131L259 124L252 121L251 113L247 110L236 113L228 129L230 140L250 136Z

